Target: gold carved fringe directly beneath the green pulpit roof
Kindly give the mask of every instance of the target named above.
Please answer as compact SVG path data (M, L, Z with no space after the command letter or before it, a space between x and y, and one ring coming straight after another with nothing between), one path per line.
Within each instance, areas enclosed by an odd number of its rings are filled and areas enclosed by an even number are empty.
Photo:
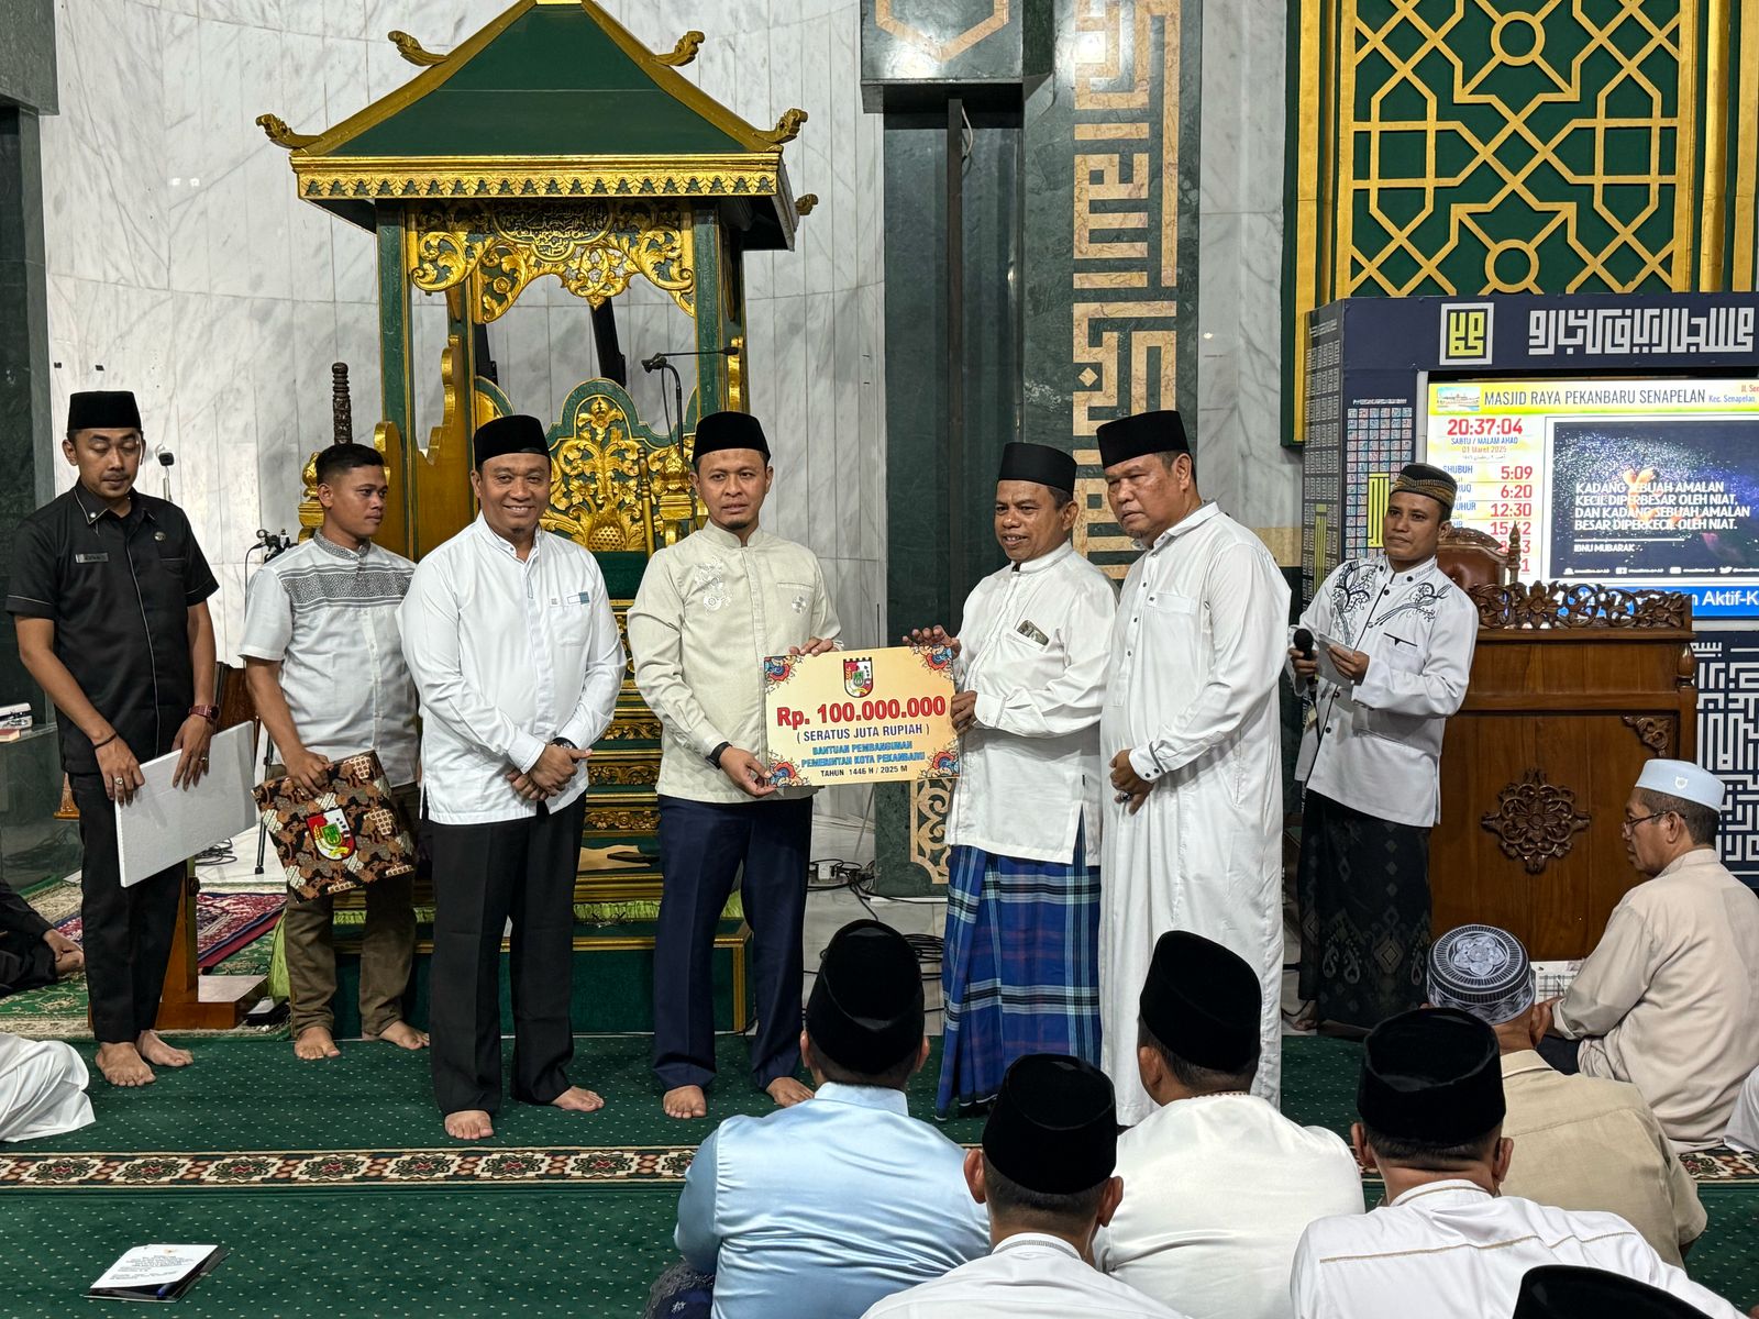
M644 276L693 315L690 215L670 202L531 202L419 209L410 281L429 294L470 280L475 317L501 317L545 274L591 306Z

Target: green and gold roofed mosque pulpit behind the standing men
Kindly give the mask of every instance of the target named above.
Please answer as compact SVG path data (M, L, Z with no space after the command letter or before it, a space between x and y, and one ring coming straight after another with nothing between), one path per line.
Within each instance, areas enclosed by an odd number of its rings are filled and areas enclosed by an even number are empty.
M373 443L398 505L380 542L420 557L456 535L475 515L473 429L538 415L552 457L544 524L593 550L623 626L653 550L698 526L695 419L744 406L744 257L792 250L813 206L795 200L783 165L806 114L755 128L675 72L704 33L656 55L589 0L517 0L445 55L408 33L390 40L420 69L396 91L322 134L257 120L288 148L299 195L376 239ZM640 306L637 288L647 290ZM565 341L579 352L559 366L551 353L547 385L524 369L515 334L531 308L545 308L551 341L558 317L577 325ZM670 352L679 373L649 415L630 390L619 334L637 315L656 339L642 346ZM568 362L579 376L568 378ZM308 489L301 521L318 519ZM626 677L593 747L580 950L653 946L658 767L660 721ZM339 911L345 920L361 920L359 904ZM734 999L723 1025L744 1020L746 934L735 899L718 944ZM596 1029L579 1013L577 1025Z

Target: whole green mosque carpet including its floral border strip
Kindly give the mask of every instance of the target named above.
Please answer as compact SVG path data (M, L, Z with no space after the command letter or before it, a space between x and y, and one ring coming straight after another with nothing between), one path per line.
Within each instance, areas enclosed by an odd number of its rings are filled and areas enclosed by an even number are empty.
M77 1308L123 1249L218 1242L232 1256L183 1301L193 1314L631 1315L670 1263L677 1180L730 1113L769 1101L723 1039L711 1119L670 1122L646 1036L579 1041L573 1075L605 1094L580 1117L510 1104L493 1141L445 1138L426 1057L343 1043L299 1062L285 1039L188 1038L195 1066L144 1090L93 1090L97 1124L0 1147L0 1314ZM90 1045L81 1046L90 1059ZM1286 1108L1344 1127L1360 1048L1296 1039ZM936 1060L911 1087L932 1108ZM943 1127L974 1141L980 1122ZM1743 1310L1759 1301L1759 1164L1704 1185L1710 1233L1689 1270ZM1731 1168L1706 1164L1701 1178ZM1377 1194L1370 1189L1370 1203Z

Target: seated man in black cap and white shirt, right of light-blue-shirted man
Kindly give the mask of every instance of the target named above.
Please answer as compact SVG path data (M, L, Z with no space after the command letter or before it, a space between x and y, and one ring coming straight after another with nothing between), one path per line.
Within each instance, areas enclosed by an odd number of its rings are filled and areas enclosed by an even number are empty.
M1015 1060L983 1124L983 1148L966 1155L971 1198L989 1208L990 1254L880 1301L865 1319L1182 1319L1092 1268L1094 1231L1124 1198L1115 1166L1117 1103L1105 1073L1066 1053Z

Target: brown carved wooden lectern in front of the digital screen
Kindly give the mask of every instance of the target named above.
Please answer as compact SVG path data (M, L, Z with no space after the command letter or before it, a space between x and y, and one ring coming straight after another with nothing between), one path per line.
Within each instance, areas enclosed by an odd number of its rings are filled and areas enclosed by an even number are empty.
M1430 835L1434 930L1483 922L1536 958L1583 957L1643 878L1620 834L1638 774L1697 751L1692 601L1557 582L1471 596L1478 652Z

